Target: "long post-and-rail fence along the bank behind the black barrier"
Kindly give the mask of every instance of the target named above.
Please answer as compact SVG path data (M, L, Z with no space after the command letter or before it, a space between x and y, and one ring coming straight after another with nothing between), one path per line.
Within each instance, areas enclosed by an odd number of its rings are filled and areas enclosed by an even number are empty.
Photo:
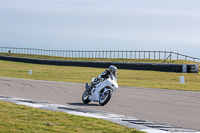
M69 58L124 58L124 59L159 59L185 60L200 62L195 58L172 51L78 51L78 50L46 50L33 48L0 47L2 53L19 53L32 55L59 56Z

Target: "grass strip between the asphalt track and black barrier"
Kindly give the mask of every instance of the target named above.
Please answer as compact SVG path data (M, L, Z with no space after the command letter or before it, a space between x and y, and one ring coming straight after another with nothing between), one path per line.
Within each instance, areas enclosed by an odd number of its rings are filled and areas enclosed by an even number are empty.
M28 75L28 70L32 70L33 74ZM0 61L1 77L24 79L86 83L104 70ZM179 76L185 76L185 84L179 83ZM118 69L118 83L120 86L200 91L200 74Z

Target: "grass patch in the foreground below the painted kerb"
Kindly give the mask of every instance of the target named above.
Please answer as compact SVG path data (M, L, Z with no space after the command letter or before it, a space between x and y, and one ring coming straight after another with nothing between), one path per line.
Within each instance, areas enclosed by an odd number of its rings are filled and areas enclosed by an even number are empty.
M0 101L0 133L142 133L109 121Z

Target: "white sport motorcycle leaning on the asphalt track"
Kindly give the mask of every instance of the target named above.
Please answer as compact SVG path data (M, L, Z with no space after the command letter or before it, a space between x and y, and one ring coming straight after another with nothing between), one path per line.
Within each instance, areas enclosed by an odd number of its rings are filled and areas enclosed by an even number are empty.
M92 81L94 81L95 78L92 78ZM83 93L82 101L83 103L89 103L91 101L99 102L101 106L108 103L112 96L112 92L116 91L118 88L117 84L117 77L114 75L109 75L108 79L105 79L104 81L99 82L96 84L91 92L88 91L88 83L86 83L86 90Z

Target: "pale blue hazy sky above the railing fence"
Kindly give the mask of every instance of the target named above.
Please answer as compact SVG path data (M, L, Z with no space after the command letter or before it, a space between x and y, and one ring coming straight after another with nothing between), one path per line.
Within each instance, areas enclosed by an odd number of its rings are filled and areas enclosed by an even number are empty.
M200 58L200 0L0 0L0 47Z

